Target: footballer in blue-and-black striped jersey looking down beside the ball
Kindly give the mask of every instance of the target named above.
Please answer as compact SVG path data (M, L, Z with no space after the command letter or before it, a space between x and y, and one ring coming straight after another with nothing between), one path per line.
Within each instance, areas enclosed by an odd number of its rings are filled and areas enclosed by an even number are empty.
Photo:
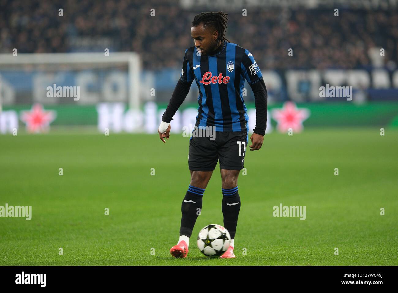
M238 176L243 169L248 144L248 114L242 89L244 81L253 90L256 127L250 136L251 151L261 148L267 125L267 89L261 71L250 51L225 38L228 18L223 12L202 12L191 26L194 46L185 50L180 79L174 89L158 128L160 139L169 139L170 122L187 96L191 83L199 89L199 108L195 128L215 130L210 136L191 136L188 167L191 181L181 205L181 226L172 256L188 254L196 219L202 208L207 183L220 162L222 179L222 214L224 227L231 236L230 247L221 258L234 258L234 238L240 210ZM199 209L198 209L199 208Z

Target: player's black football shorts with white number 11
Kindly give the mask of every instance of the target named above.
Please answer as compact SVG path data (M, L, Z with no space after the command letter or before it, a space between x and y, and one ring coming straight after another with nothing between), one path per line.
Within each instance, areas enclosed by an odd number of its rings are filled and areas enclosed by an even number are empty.
M220 161L220 169L241 170L248 148L248 132L215 131L211 137L191 136L188 167L192 171L213 171Z

